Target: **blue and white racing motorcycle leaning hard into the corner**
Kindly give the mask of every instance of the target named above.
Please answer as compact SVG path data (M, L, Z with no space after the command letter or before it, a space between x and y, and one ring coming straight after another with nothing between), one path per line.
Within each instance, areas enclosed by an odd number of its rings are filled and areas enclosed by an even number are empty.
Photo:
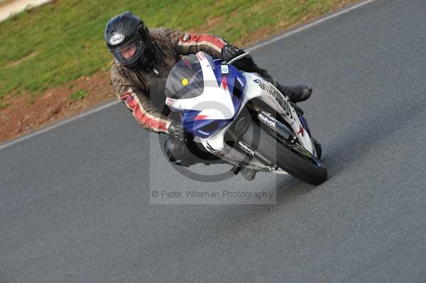
M321 146L302 111L258 74L232 65L247 54L229 62L204 52L183 57L168 76L165 104L235 174L244 166L321 184L327 179Z

